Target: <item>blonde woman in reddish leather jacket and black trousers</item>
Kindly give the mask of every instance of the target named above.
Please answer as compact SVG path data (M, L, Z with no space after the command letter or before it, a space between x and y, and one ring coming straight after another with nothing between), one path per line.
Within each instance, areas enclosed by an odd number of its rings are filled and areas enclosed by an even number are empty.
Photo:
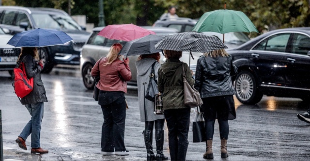
M100 58L92 69L92 76L100 76L96 87L100 90L98 104L104 123L101 133L103 155L129 155L124 145L127 82L131 80L129 59L118 55L122 45L113 44L107 57Z

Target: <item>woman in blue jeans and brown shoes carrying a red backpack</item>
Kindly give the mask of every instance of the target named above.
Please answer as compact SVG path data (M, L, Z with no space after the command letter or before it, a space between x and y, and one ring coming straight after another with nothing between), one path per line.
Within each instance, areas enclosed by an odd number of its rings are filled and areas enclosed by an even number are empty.
M48 150L41 148L40 145L41 123L44 113L43 102L47 102L47 96L40 73L43 69L45 60L39 60L37 48L23 47L21 48L17 65L20 65L21 62L25 64L27 78L33 78L33 90L30 94L21 98L21 103L26 106L31 115L31 120L19 134L16 143L20 148L27 150L26 139L31 134L31 153L48 153Z

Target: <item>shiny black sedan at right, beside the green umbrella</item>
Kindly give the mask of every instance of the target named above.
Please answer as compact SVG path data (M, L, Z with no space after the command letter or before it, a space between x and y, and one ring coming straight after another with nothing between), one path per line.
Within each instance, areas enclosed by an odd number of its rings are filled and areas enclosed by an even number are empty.
M236 97L256 104L263 95L310 99L310 28L264 33L227 50L238 67Z

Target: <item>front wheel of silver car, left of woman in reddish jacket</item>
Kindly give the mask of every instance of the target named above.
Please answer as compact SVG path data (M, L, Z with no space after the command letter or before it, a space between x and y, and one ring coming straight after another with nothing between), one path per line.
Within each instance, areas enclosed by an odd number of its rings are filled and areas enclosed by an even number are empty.
M95 86L95 80L92 77L91 71L93 68L93 64L85 64L82 68L82 77L83 77L83 83L84 86L87 89L93 89Z

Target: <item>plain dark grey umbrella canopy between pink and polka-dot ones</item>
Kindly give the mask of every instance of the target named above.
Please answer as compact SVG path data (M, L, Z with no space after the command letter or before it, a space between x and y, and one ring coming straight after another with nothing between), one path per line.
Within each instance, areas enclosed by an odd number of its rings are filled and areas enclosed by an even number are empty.
M120 51L120 55L134 56L143 54L153 54L160 52L160 49L155 49L155 44L164 36L149 34L147 36L128 41Z

